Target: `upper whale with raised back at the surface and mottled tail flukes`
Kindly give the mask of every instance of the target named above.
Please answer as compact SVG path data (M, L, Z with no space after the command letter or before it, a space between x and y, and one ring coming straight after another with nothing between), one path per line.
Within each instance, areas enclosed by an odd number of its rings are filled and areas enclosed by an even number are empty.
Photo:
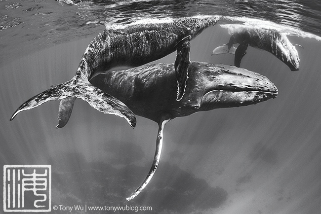
M69 120L75 99L80 98L98 111L124 117L134 128L136 117L133 112L120 100L93 86L89 80L115 67L141 66L177 51L174 78L177 79L176 100L179 101L184 95L188 78L190 40L205 28L215 25L219 19L220 16L146 19L126 26L106 28L90 42L71 80L48 89L47 96L38 97L36 102L27 101L14 112L10 120L22 110L37 107L49 100L62 100L57 125L57 128L61 128ZM84 97L80 93L83 90L87 90L86 95L90 96Z

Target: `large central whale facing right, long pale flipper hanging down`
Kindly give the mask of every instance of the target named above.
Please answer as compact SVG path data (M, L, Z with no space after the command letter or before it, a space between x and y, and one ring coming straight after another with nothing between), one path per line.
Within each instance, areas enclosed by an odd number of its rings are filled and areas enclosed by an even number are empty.
M91 80L93 85L118 98L136 115L159 125L152 167L128 201L137 196L155 174L161 158L164 126L169 120L215 108L257 104L278 94L278 89L268 78L245 69L200 62L191 63L188 69L190 78L179 102L176 101L173 64L111 71Z

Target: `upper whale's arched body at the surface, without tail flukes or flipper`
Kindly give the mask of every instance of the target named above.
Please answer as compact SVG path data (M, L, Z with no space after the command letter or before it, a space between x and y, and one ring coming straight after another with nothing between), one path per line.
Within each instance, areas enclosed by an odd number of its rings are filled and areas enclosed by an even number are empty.
M137 67L176 51L219 20L219 16L145 20L127 26L112 26L96 36L80 61L79 72L93 77L117 66ZM80 74L79 74L80 75Z

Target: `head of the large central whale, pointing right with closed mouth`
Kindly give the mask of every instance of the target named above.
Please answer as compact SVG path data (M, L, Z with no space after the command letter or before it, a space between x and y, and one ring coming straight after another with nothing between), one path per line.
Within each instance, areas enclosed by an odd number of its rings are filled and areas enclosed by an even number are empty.
M248 106L278 95L273 82L256 72L225 65L201 65L198 70L203 87L198 111Z

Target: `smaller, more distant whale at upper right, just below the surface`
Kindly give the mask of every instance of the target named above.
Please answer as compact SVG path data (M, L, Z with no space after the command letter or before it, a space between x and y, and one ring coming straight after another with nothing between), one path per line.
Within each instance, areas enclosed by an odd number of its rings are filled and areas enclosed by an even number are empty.
M294 45L287 36L274 30L266 30L255 26L240 24L221 25L229 30L231 35L227 44L215 48L213 54L231 53L235 54L234 65L241 66L241 60L246 54L248 46L266 50L280 59L291 71L299 70L299 55ZM239 44L236 48L233 45Z

